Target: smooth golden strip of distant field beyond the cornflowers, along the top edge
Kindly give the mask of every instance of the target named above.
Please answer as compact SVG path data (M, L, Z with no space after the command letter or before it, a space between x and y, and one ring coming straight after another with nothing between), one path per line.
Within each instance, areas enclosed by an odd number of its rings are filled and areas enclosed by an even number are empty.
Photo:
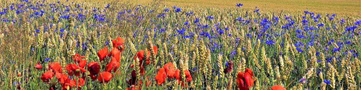
M129 0L134 4L149 4L153 0ZM164 0L165 5L182 7L207 7L236 9L236 3L242 3L244 9L256 6L267 12L303 12L352 14L361 16L360 0ZM265 5L266 4L266 5Z

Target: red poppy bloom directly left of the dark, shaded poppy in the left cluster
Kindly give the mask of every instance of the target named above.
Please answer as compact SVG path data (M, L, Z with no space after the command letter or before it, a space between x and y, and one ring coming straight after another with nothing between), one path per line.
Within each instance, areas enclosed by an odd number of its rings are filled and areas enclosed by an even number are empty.
M69 76L73 76L75 74L75 76L77 76L77 77L80 76L80 73L86 72L86 70L84 68L79 67L77 64L66 65L66 70L68 70Z

